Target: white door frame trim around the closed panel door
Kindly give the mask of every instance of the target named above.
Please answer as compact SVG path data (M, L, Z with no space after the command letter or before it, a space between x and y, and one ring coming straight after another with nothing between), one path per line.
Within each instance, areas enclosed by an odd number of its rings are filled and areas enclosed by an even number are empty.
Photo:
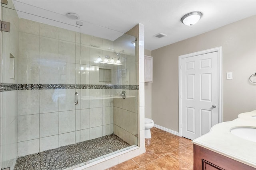
M182 84L181 84L181 64L182 64L182 59L188 58L188 57L194 57L197 55L202 55L202 54L207 54L207 53L212 53L212 52L218 52L218 123L222 122L222 47L216 47L212 49L207 49L203 51L198 51L195 53L190 53L190 54L185 54L185 55L180 55L179 56L179 61L178 61L178 87L179 87L179 136L182 136L182 104L181 104L181 91L182 91Z

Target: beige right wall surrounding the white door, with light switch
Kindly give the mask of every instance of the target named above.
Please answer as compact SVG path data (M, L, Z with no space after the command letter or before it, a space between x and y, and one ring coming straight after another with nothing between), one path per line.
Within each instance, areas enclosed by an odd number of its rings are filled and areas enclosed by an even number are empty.
M256 109L256 16L152 51L152 119L178 131L178 56L222 46L223 121ZM233 79L226 80L226 72Z

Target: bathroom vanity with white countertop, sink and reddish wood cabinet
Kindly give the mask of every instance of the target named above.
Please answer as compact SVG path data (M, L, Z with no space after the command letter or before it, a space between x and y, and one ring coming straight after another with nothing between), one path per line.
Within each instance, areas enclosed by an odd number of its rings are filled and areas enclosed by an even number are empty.
M194 170L256 170L256 110L214 125L192 143Z

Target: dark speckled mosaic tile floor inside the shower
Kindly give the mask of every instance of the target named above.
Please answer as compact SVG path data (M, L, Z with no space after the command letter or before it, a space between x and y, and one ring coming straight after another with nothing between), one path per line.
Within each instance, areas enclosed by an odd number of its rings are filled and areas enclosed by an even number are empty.
M126 147L130 145L116 135L106 135L18 157L14 170L63 170Z

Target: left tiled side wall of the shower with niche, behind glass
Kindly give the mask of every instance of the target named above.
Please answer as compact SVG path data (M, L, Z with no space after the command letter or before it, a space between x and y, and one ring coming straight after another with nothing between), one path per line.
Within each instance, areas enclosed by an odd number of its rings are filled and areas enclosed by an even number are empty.
M18 152L18 15L15 10L6 7L1 7L1 10L1 20L9 22L12 31L12 34L1 31L1 168L12 169Z

